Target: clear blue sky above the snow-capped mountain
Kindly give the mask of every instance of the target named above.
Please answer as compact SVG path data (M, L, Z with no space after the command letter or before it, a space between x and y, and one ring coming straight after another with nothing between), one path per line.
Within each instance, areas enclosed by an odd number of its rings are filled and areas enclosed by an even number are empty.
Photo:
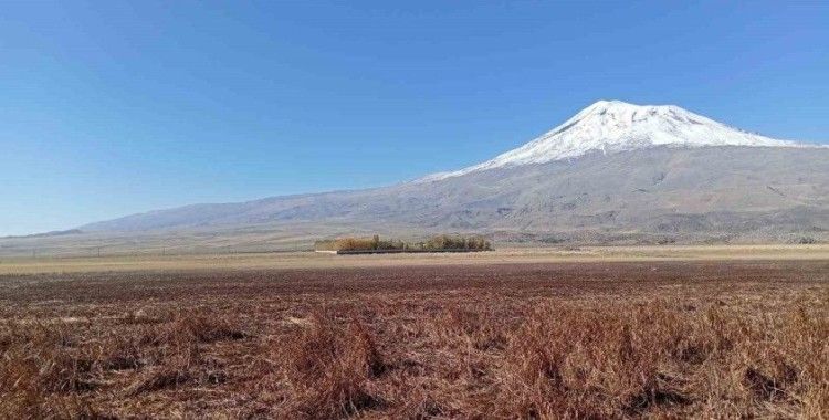
M597 99L829 139L829 2L0 1L0 235L393 183Z

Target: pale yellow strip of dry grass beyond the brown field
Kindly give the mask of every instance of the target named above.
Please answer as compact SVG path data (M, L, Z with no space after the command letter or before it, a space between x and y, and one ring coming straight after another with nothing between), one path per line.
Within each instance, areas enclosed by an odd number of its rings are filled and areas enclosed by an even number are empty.
M314 252L104 254L86 258L0 258L0 274L343 269L562 262L829 260L829 245L639 245L499 248L468 254L329 255Z

